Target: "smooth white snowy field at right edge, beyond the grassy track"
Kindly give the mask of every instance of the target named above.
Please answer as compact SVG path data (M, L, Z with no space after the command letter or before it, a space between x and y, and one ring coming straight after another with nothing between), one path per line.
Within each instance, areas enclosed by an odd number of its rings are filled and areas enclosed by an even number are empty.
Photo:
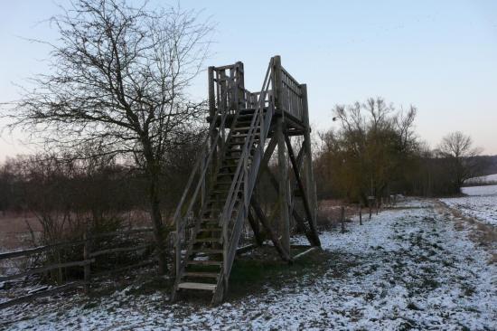
M463 187L468 196L440 199L466 216L497 226L497 185Z

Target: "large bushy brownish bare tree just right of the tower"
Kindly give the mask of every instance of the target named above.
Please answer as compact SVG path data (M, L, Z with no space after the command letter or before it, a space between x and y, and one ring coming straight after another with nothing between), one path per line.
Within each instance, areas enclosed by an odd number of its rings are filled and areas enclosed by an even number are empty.
M340 128L321 134L323 147L316 158L318 189L334 190L351 200L380 199L404 180L417 151L414 120L417 109L395 109L384 99L337 105L333 120Z

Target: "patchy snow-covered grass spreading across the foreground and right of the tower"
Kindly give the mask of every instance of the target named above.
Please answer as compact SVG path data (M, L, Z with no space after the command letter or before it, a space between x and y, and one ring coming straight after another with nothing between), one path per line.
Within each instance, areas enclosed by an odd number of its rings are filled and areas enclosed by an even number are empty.
M494 330L497 266L446 215L423 208L373 215L348 232L324 232L327 271L220 307L167 304L162 292L126 290L93 305L0 311L8 329L443 329ZM285 279L281 280L285 282ZM88 301L87 301L88 302ZM0 326L1 327L1 326Z

